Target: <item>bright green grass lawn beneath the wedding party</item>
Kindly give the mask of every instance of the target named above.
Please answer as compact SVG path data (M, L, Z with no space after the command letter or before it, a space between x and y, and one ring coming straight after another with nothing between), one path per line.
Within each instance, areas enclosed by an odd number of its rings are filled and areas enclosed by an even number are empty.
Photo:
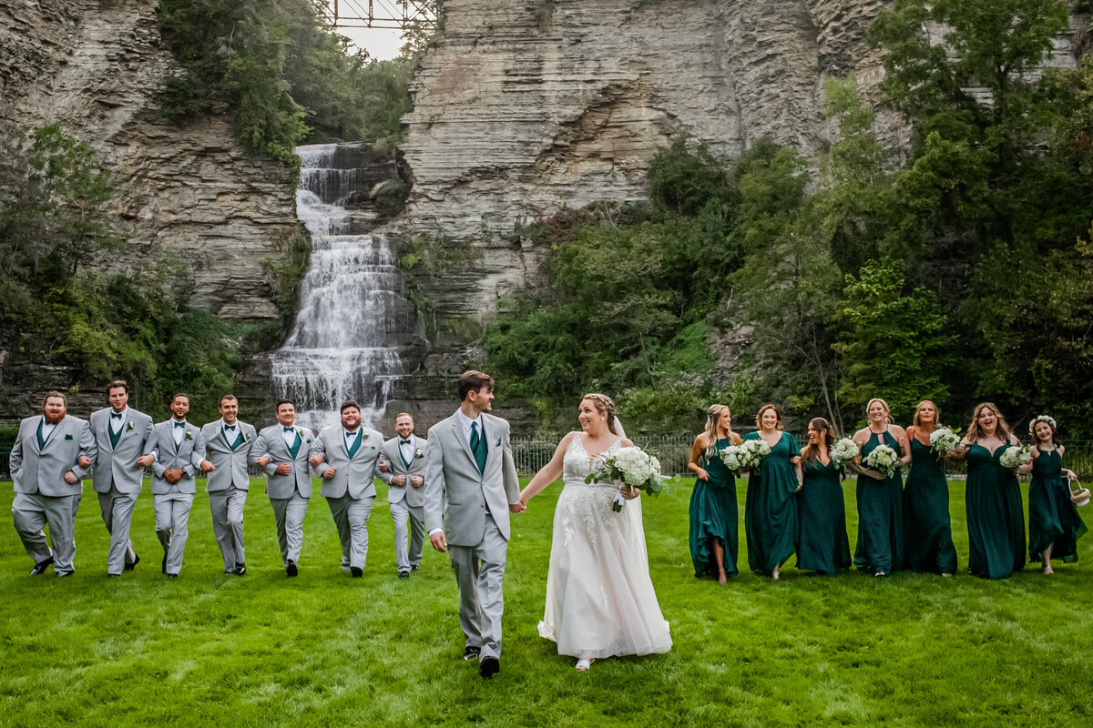
M247 501L244 577L222 574L199 492L181 576L168 581L145 485L132 532L143 561L107 580L89 485L70 578L28 577L14 528L0 526L0 726L1093 725L1093 538L1080 541L1081 562L1050 577L1032 568L1001 582L967 576L964 489L953 484L957 576L787 568L773 583L748 573L741 488L741 575L720 587L693 576L691 481L669 485L645 502L645 528L672 651L580 675L538 636L556 485L514 520L502 672L491 681L458 659L447 557L426 546L421 572L397 578L383 498L364 578L342 573L316 497L301 574L289 580L261 480ZM7 508L10 485L2 490ZM854 486L845 490L853 548Z

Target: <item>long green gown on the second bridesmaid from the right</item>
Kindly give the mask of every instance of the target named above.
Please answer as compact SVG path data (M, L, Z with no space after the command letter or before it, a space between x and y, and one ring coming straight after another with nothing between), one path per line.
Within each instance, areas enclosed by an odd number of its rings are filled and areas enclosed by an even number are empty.
M1008 446L967 449L967 571L984 578L1006 578L1025 564L1021 487L998 463Z

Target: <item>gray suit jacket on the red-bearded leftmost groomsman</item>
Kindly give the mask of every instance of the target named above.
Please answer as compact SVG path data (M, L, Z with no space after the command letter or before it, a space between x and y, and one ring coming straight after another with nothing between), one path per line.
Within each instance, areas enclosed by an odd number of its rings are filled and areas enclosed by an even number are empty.
M8 458L16 493L43 496L79 496L87 470L77 464L80 455L95 460L95 435L87 420L66 415L57 423L44 447L38 447L38 425L44 415L27 417L19 423L19 437ZM71 472L81 482L70 486L64 474Z

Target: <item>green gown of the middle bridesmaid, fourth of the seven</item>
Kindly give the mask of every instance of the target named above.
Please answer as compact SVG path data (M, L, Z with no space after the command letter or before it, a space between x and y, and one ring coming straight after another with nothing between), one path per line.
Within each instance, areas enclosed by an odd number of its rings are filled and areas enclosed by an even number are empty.
M882 443L900 454L900 443L888 430L870 432L869 441L861 446L861 462ZM885 575L903 569L903 475L898 469L884 480L859 475L857 496L854 565L870 574Z

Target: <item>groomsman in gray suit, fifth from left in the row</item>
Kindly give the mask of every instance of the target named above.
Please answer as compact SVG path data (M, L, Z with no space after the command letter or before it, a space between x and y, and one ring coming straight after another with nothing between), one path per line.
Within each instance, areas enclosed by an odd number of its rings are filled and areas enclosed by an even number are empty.
M312 473L307 469L315 435L296 427L296 405L277 403L277 425L263 428L250 449L250 462L266 472L266 494L273 506L277 539L285 573L299 573L299 551L304 545L304 516L312 497Z

